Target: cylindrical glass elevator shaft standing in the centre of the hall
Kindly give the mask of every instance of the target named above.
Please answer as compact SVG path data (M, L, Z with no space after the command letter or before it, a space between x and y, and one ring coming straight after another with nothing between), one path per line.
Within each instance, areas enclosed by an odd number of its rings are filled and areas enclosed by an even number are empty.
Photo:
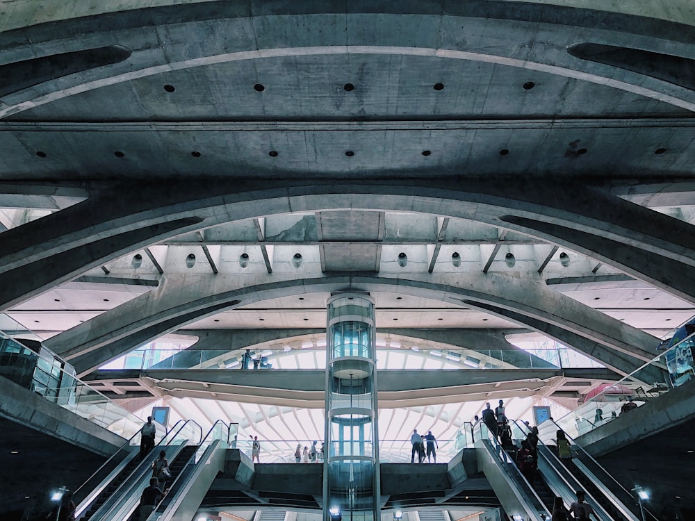
M366 295L328 301L324 520L379 520L375 307Z

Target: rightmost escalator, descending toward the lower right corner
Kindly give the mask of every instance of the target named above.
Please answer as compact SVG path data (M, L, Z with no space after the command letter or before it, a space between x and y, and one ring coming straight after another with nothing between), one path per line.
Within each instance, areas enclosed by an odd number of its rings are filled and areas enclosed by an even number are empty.
M520 422L510 423L514 438L521 443L521 439L528 434L528 427ZM547 438L546 441L548 441ZM639 521L641 519L639 509L635 511L635 508L632 508L630 493L623 489L623 494L616 495L605 484L608 482L617 484L607 472L601 478L593 472L584 472L585 467L578 458L570 461L560 460L557 456L557 447L546 445L542 440L538 443L537 458L538 474L544 485L553 497L562 497L566 506L576 500L575 493L578 490L584 490L586 502L594 508L596 517L600 521Z

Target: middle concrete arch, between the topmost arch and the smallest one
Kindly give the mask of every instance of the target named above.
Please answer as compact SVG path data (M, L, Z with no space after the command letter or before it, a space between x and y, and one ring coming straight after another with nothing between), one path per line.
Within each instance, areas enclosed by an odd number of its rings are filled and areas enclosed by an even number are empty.
M277 213L355 208L459 217L534 235L695 302L695 226L570 181L562 190L543 180L494 179L466 180L461 189L450 188L450 179L234 185L236 192L221 181L113 187L4 232L0 309L167 235Z

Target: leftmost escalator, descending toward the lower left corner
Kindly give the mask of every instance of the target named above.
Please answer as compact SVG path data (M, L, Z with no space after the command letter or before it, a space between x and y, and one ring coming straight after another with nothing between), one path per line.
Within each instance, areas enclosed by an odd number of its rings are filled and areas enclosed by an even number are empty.
M108 472L106 478L77 506L76 519L112 521L129 518L139 504L142 490L149 485L152 462L159 452L164 450L167 460L174 463L182 449L189 445L188 440L201 438L202 429L199 426L198 434L195 436L196 426L197 424L191 421L178 422L143 461L140 461L137 447L129 448L129 454L123 461Z

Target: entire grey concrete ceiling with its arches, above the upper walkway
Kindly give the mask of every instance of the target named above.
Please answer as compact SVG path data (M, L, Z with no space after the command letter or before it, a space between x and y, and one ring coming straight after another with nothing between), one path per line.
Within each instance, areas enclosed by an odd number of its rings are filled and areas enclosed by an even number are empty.
M688 0L0 10L4 329L81 374L302 338L346 289L402 339L532 331L618 374L695 315Z

